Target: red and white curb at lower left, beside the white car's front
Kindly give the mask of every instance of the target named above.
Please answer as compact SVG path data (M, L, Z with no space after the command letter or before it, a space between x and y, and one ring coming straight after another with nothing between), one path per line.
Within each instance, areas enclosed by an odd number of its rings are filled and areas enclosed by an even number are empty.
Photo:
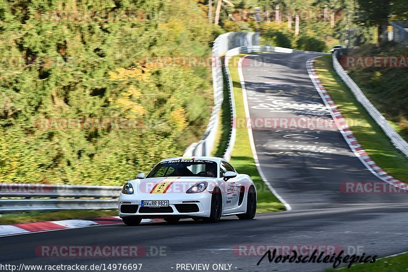
M148 222L164 222L163 219L142 219L142 223ZM0 225L0 237L18 234L27 234L34 232L45 232L65 229L84 228L100 225L118 225L123 224L119 216L96 217L88 220L60 220L60 221L45 221L34 223L21 223L13 225Z

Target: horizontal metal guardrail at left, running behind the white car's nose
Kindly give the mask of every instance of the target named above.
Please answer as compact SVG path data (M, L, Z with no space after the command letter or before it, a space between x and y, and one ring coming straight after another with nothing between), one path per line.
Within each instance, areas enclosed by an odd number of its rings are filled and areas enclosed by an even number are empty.
M0 184L0 214L59 210L114 210L119 186Z

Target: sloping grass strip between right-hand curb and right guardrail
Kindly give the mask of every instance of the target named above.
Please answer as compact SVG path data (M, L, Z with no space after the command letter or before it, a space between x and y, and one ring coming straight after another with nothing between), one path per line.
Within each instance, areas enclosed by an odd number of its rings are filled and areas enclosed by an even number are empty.
M333 68L331 56L315 60L317 75L346 119L350 130L378 166L400 181L408 182L408 159L391 143Z

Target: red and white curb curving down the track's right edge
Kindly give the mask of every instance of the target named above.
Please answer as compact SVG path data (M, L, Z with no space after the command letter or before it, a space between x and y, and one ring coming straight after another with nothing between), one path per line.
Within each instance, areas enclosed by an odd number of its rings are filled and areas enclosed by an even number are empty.
M315 57L318 58L318 57ZM348 127L345 118L338 110L336 104L331 99L330 95L325 90L324 86L319 80L319 77L316 74L315 67L313 66L313 60L315 58L311 58L306 63L306 68L309 72L309 77L312 80L313 84L315 85L316 90L319 92L320 97L322 98L324 104L326 105L327 109L329 110L331 117L333 117L337 128L343 135L344 139L350 146L351 151L355 154L356 157L360 159L360 161L372 172L374 176L378 179L385 181L399 189L407 190L408 184L403 183L393 177L391 177L384 169L381 169L367 154L367 152L363 149L360 145L359 141L354 137L353 132Z

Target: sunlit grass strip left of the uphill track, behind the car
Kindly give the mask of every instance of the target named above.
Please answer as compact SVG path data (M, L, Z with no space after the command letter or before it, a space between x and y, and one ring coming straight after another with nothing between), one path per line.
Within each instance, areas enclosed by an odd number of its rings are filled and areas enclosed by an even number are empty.
M238 59L245 55L235 56L230 60L230 63L238 63ZM246 117L244 108L244 99L242 96L242 88L238 75L238 68L230 65L230 73L233 80L235 110L237 118ZM258 208L257 212L275 212L284 211L285 206L279 202L273 195L259 175L257 166L252 157L252 150L249 143L248 131L239 129L236 131L236 139L234 150L231 156L231 164L238 172L245 173L251 177L257 187L258 192Z

